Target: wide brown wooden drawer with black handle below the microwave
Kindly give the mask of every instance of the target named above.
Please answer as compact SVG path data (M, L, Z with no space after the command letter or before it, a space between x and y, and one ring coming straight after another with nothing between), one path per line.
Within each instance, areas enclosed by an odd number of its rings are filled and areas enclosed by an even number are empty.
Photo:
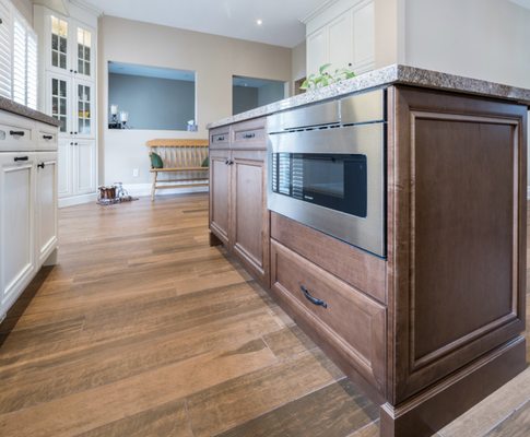
M385 392L386 307L271 240L272 293L331 356ZM313 302L311 302L313 299ZM346 370L348 371L348 370Z

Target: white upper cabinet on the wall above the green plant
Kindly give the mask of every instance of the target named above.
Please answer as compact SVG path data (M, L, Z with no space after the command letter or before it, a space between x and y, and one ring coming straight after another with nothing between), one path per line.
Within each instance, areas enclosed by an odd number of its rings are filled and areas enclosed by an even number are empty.
M356 74L375 66L374 0L339 0L306 20L307 75L320 66Z

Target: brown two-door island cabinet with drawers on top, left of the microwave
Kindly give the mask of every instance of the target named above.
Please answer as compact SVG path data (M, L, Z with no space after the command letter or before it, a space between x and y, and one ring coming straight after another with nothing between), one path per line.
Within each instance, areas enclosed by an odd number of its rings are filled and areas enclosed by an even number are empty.
M266 144L264 119L210 132L210 231L268 285Z

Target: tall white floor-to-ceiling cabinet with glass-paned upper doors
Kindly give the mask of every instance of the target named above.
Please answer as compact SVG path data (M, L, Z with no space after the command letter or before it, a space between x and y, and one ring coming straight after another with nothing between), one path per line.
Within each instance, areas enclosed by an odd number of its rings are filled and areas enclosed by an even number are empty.
M35 5L44 95L42 110L60 121L58 141L59 205L96 199L96 46L97 19L71 16ZM90 22L86 24L83 20Z

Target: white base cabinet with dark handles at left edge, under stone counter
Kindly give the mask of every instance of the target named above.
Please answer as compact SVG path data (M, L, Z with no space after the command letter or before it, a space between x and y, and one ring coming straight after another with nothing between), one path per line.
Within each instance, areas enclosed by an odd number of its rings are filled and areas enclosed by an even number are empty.
M0 320L57 249L57 128L0 111Z

